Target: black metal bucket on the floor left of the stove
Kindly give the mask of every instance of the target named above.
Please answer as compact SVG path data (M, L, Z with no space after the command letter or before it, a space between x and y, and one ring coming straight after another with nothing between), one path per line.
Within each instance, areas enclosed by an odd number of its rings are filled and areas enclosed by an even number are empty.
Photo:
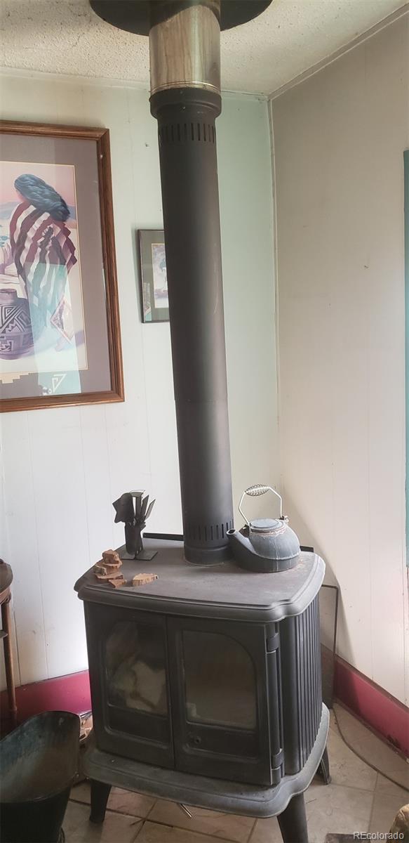
M2 843L57 843L77 775L80 720L69 711L30 717L0 742Z

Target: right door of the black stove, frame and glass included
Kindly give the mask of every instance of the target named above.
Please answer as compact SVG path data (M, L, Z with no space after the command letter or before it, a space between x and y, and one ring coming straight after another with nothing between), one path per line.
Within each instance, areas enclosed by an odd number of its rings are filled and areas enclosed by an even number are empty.
M271 785L267 638L262 624L167 618L177 770Z

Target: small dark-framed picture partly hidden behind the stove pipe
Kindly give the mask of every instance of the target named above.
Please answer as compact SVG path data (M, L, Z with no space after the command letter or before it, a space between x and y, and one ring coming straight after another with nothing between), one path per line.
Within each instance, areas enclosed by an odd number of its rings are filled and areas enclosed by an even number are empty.
M142 319L168 322L165 238L161 228L143 229L139 234L141 257Z

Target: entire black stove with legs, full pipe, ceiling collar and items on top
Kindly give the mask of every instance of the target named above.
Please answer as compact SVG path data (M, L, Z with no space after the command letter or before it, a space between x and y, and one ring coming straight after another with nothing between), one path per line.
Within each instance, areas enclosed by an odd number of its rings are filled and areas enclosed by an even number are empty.
M307 843L303 793L328 781L318 592L325 565L279 518L234 529L215 119L220 30L271 0L89 0L107 24L148 35L157 119L183 537L141 531L142 493L114 502L131 583L141 553L157 578L84 603L93 733L84 753L91 819L111 786L183 805L277 816ZM251 486L244 497L274 491ZM134 495L134 497L132 497ZM137 497L140 495L141 497ZM281 503L281 502L280 502ZM129 557L132 558L129 558ZM133 558L135 557L135 558Z

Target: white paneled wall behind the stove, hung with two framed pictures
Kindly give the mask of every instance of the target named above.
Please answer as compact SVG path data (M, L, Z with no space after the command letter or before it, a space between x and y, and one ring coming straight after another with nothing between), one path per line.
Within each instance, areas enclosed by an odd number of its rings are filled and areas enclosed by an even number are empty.
M162 226L157 122L146 90L71 78L0 78L9 120L107 126L125 403L3 414L0 556L13 566L18 679L87 667L77 577L120 545L112 501L157 498L150 528L181 531L169 325L143 325L137 228ZM234 498L277 481L268 105L226 95L218 121ZM262 305L262 306L261 306ZM251 399L251 402L250 402ZM248 412L249 405L252 412Z

